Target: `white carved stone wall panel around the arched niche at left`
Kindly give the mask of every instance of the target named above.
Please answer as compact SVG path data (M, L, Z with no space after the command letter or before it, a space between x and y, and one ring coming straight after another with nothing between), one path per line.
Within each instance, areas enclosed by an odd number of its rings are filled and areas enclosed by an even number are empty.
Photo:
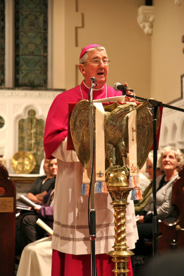
M49 107L53 99L61 92L62 90L0 90L0 116L5 119L5 126L0 129L0 147L10 174L15 173L11 167L11 158L19 150L19 119L25 119L27 112L33 109L36 112L36 118L42 119L45 124Z

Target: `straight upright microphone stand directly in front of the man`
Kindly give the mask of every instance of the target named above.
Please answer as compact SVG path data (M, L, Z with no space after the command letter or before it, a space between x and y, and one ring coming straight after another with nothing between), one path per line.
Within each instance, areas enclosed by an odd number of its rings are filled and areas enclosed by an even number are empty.
M91 78L91 87L89 89L89 133L90 133L90 189L91 196L90 211L88 208L89 235L91 240L91 276L96 276L95 262L95 238L96 238L96 211L94 209L94 132L93 132L93 87L96 87L95 78Z

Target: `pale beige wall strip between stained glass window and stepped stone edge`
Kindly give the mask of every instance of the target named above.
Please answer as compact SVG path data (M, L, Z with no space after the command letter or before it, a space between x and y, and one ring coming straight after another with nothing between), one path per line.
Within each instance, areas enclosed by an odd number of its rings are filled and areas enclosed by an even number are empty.
M77 47L77 27L82 15L75 0L53 0L53 88L69 89L77 84L76 65L81 48Z

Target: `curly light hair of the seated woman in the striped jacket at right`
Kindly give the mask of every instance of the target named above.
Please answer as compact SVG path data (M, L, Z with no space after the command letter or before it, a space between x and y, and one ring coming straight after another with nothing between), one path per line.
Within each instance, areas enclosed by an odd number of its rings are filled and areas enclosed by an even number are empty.
M162 158L165 154L169 153L170 151L173 151L175 153L175 157L176 157L176 160L177 160L177 163L178 163L178 167L177 167L177 170L180 171L181 167L183 166L184 164L184 155L183 153L181 152L181 150L179 149L175 149L175 148L172 148L170 146L166 146L165 148L163 148L163 150L161 151L160 153L160 157L158 159L158 167L160 169L162 169Z

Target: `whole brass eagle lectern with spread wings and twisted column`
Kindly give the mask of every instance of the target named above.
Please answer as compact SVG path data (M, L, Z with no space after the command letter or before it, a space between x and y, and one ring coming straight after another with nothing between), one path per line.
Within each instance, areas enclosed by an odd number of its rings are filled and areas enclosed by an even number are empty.
M95 108L94 108L95 109ZM93 109L93 111L94 111ZM126 206L129 188L129 169L126 165L128 143L128 114L137 110L137 165L141 168L153 143L152 113L150 105L143 102L140 105L118 102L104 106L105 110L105 152L106 152L106 184L112 198L114 208L114 250L108 254L114 262L114 275L126 276L129 270L127 263L133 252L127 250L126 244ZM95 121L95 112L93 112ZM158 109L157 130L160 124ZM95 130L95 124L94 124ZM70 117L70 132L78 159L83 167L89 167L89 102L80 101Z

